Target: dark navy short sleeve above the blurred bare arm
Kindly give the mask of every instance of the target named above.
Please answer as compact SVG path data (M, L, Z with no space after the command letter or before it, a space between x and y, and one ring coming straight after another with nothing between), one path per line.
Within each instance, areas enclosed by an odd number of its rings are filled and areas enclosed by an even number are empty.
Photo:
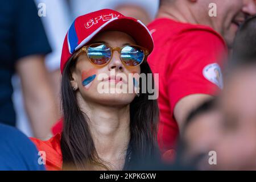
M17 2L17 14L14 20L16 60L28 55L46 55L51 52L35 2L32 0Z

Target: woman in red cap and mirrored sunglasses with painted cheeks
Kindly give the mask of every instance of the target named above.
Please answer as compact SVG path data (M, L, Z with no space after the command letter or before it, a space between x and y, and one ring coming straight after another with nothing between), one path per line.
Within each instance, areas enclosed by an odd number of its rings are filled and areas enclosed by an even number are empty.
M138 92L138 75L151 73L153 47L147 28L117 11L75 19L61 55L63 131L47 141L32 138L47 169L130 169L158 154L158 105L147 90ZM120 92L128 88L134 92Z

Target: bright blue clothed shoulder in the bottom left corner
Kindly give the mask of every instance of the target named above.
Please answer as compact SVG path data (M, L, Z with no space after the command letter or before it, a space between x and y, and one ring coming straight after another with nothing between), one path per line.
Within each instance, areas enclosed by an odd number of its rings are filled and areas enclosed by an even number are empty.
M44 170L39 158L35 145L24 134L0 124L0 171Z

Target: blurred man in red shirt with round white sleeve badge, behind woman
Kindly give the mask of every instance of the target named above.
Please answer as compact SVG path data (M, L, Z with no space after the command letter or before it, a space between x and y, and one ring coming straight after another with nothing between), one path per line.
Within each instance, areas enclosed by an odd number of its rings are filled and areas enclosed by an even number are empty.
M255 13L254 0L160 1L158 16L148 25L155 42L148 63L159 73L163 153L175 147L188 113L223 88L228 47L247 15Z

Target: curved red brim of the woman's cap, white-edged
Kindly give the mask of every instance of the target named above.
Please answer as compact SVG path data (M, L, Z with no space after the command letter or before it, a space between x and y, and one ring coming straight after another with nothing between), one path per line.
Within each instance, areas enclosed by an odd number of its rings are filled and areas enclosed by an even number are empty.
M79 46L77 46L76 50L90 42L90 40L92 40L95 36L103 31L125 32L135 40L138 46L147 48L149 53L153 51L154 42L147 27L144 26L144 24L142 24L139 20L129 17L121 17L105 23L100 28L98 28L98 30L96 30L92 36L82 41Z

